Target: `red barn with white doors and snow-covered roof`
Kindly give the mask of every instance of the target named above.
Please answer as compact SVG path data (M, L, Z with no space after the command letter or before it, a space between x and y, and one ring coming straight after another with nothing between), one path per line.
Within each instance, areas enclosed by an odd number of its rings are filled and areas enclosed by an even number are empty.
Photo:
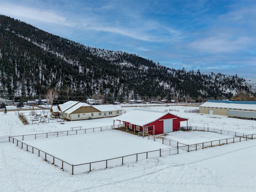
M112 118L124 123L124 126L133 130L151 135L169 133L180 128L181 121L188 121L169 112L134 109L130 112Z

